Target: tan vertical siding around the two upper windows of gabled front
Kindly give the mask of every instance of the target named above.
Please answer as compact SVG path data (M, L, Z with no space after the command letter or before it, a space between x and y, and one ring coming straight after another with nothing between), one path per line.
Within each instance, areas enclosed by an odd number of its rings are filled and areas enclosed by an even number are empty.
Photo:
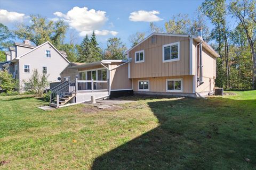
M180 42L180 60L163 62L163 45ZM135 52L145 50L145 62L135 63ZM129 52L132 58L130 78L169 77L189 75L189 37L159 36L151 44L151 37Z

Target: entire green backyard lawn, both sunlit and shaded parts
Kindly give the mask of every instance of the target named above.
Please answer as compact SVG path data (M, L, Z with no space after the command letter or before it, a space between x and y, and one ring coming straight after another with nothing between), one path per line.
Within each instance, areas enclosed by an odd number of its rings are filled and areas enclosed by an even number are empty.
M0 97L0 169L256 169L256 91L235 93L111 111Z

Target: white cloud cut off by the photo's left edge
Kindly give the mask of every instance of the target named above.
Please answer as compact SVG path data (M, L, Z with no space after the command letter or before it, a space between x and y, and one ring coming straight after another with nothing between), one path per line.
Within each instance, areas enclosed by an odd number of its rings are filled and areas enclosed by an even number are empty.
M23 22L27 18L25 14L18 12L9 12L7 10L0 10L0 22L7 24L10 22Z

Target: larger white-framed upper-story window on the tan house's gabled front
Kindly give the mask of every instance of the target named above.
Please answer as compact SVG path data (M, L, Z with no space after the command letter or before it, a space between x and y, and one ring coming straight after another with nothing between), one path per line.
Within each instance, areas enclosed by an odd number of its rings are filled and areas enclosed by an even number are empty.
M180 60L180 42L163 45L163 62Z

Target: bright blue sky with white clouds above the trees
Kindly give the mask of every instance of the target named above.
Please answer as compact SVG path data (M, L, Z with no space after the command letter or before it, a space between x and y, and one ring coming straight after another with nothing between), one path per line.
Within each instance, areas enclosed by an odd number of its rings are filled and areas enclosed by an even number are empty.
M49 20L64 19L69 24L66 41L70 32L76 33L79 44L86 33L98 30L97 40L101 47L106 47L107 39L110 37L120 37L126 46L130 47L130 35L137 31L149 35L149 21L155 21L156 25L163 27L164 22L173 15L186 13L191 17L202 2L0 0L0 22L13 29L14 25L20 22L29 24L28 15L40 14ZM210 21L209 26L212 27Z

